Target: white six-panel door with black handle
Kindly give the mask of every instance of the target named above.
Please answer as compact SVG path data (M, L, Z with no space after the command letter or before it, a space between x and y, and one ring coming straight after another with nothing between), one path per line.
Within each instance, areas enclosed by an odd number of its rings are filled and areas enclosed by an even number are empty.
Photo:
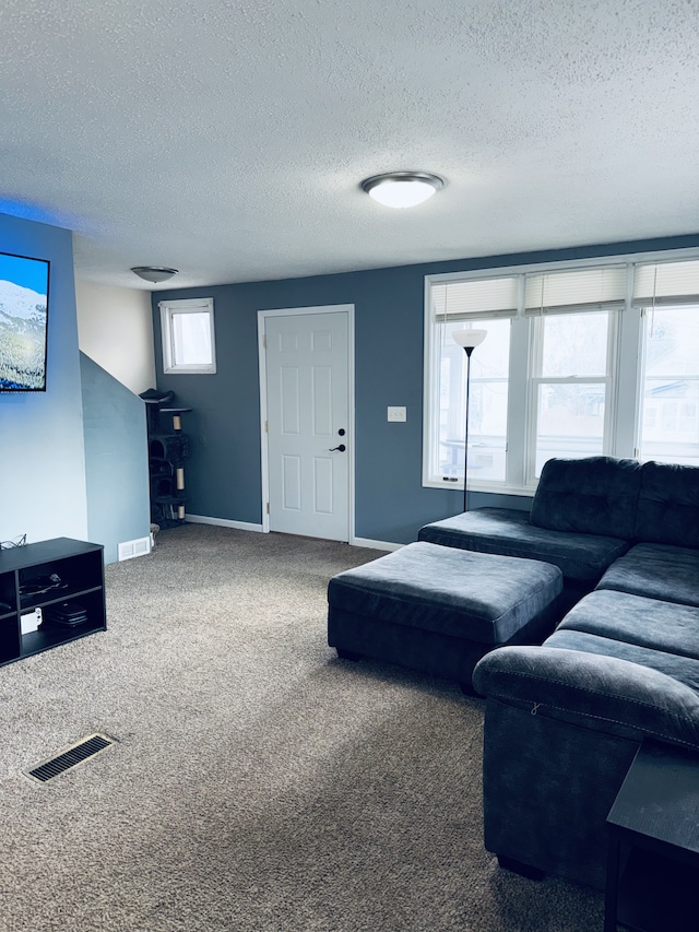
M348 319L265 318L270 530L350 540Z

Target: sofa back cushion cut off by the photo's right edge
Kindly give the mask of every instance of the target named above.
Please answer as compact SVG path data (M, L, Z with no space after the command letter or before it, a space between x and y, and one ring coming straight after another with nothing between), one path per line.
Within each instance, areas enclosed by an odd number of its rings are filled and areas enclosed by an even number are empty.
M633 535L699 548L699 467L643 463Z

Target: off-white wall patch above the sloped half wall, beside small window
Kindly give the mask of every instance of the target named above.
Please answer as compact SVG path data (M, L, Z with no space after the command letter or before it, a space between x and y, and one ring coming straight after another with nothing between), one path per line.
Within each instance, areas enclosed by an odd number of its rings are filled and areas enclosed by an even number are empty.
M151 293L75 282L78 342L134 394L155 388Z

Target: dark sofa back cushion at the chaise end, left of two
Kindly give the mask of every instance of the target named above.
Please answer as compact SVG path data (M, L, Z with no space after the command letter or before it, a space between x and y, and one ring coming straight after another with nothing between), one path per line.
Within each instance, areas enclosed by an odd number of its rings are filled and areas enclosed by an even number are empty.
M630 541L640 485L641 467L636 460L547 460L532 503L532 524Z

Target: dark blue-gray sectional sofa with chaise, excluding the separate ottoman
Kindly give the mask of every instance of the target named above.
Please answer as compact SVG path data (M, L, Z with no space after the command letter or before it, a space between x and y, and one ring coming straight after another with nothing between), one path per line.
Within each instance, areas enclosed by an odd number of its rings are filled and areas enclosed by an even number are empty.
M419 538L562 570L554 633L473 674L485 845L522 873L603 888L606 816L643 739L699 751L699 468L549 460L531 515L476 509Z

